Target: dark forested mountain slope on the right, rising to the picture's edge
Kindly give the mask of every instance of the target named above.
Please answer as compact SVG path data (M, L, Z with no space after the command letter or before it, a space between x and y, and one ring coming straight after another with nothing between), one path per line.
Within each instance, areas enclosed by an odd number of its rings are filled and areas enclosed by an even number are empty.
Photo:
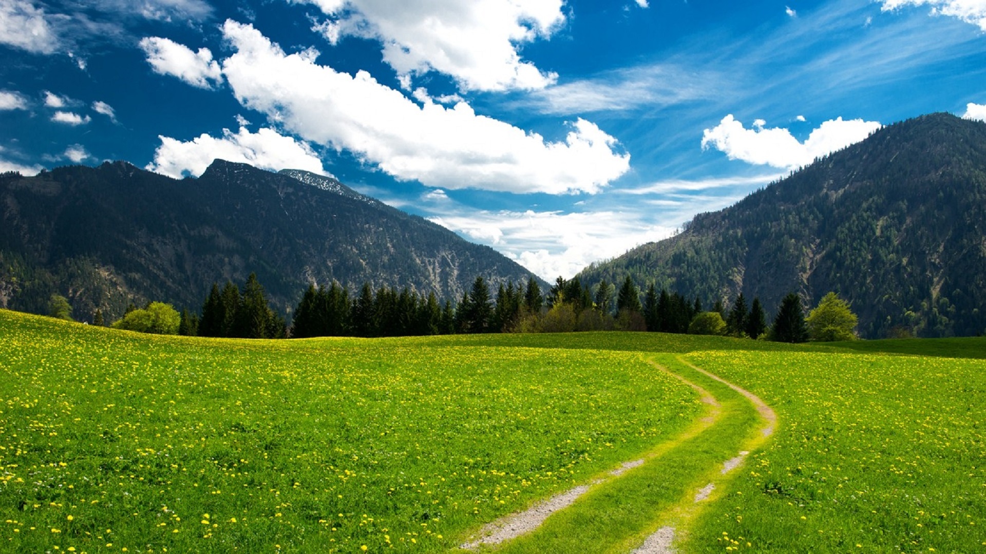
M935 113L881 128L684 231L585 269L706 307L740 292L852 302L865 337L986 329L986 124Z

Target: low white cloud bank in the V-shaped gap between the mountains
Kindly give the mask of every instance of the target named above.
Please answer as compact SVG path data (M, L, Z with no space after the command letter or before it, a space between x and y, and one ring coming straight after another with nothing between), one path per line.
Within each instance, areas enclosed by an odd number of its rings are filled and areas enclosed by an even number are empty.
M554 281L559 275L570 278L594 261L673 234L673 227L649 222L648 212L480 211L429 219L473 241L494 245L541 278Z

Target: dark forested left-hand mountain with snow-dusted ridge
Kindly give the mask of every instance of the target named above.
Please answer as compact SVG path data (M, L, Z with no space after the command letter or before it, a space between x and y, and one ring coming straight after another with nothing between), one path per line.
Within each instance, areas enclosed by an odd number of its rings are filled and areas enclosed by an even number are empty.
M197 309L214 281L243 283L250 272L284 312L309 283L452 300L476 276L494 287L530 276L333 178L221 160L184 179L124 162L4 173L0 210L0 307L44 312L58 293L81 319L149 300Z

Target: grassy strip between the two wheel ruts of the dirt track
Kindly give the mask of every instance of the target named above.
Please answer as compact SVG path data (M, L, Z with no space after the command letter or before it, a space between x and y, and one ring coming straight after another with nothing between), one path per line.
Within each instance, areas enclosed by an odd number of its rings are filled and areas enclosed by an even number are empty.
M504 553L629 552L665 525L676 527L677 542L686 542L685 523L702 506L696 492L708 483L721 490L732 474L723 463L740 450L763 442L763 418L753 405L730 388L682 363L673 355L656 355L656 365L684 381L704 388L719 402L706 418L678 438L651 452L641 466L593 486L571 507L548 518L534 531L499 548ZM703 418L704 419L704 418ZM710 500L716 498L714 491Z

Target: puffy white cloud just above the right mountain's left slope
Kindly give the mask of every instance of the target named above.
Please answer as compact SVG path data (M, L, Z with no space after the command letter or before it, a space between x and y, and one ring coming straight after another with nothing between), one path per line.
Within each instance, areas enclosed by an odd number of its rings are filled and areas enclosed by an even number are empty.
M755 128L746 129L731 113L719 125L705 129L702 148L721 150L730 160L793 170L859 142L880 128L879 121L838 117L825 121L811 131L805 142L800 142L788 129L757 126L759 121L754 122Z

